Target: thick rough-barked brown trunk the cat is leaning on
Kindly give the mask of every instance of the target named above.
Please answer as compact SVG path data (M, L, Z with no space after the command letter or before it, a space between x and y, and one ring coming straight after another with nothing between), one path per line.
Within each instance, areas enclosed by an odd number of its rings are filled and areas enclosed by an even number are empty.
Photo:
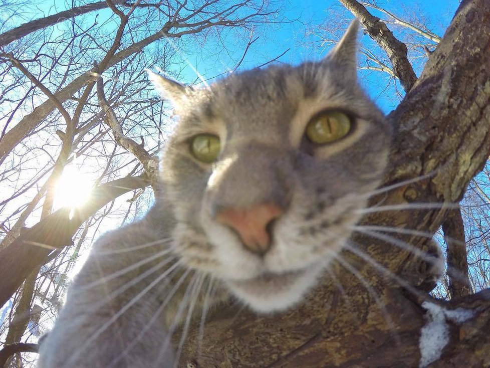
M431 175L375 201L400 205L461 199L490 151L489 50L490 2L463 1L422 75L389 115L397 133L385 185ZM446 213L445 209L378 212L362 222L433 234ZM427 248L425 238L398 238ZM421 329L435 317L421 305L429 297L407 284L423 284L427 265L393 244L360 235L354 241L359 244L357 256L345 251L343 258L363 281L336 264L332 271L345 292L326 277L305 303L279 315L218 307L208 318L202 341L198 342L198 323L189 332L180 366L419 366ZM371 260L389 271L381 271ZM464 308L472 317L459 323L441 317L439 322L447 323L448 343L439 346L442 355L428 366L490 366L490 292L433 303L447 310Z

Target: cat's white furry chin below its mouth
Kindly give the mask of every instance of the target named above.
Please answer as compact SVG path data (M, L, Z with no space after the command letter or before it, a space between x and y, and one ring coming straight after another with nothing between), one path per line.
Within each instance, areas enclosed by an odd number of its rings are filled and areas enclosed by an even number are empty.
M322 268L319 265L284 273L263 273L245 280L229 280L230 291L259 313L286 310L303 300L315 286Z

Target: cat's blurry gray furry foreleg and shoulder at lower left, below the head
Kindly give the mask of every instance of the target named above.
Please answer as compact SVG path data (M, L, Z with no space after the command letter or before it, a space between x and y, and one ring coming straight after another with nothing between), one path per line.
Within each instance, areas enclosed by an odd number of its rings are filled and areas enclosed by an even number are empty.
M173 367L163 303L179 270L168 247L144 220L103 236L42 341L38 367Z

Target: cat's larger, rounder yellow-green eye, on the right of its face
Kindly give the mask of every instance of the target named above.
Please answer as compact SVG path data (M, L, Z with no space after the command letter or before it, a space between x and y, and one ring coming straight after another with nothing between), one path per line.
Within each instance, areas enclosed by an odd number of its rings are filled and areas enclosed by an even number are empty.
M351 130L351 119L340 111L315 116L306 126L306 136L314 143L324 144L343 138Z

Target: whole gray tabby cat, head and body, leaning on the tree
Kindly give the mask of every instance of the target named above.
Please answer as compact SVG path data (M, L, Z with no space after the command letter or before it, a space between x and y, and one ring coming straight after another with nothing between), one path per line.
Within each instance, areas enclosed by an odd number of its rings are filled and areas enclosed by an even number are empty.
M206 89L150 75L179 116L163 194L94 245L40 368L172 367L169 336L193 309L229 294L260 313L303 300L351 235L390 147L357 84L357 34L353 22L320 62Z

